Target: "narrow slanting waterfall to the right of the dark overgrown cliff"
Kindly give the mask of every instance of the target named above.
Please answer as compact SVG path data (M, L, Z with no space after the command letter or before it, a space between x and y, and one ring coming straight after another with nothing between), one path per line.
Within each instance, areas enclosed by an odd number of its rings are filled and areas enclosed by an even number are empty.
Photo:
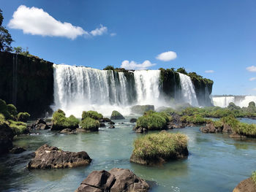
M183 96L183 101L191 104L192 106L198 106L195 88L190 77L186 74L178 74L181 80L181 95Z

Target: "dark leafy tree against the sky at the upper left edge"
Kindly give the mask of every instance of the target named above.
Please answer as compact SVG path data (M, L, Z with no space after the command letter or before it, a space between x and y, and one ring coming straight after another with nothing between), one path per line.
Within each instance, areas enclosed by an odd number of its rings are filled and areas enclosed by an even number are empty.
M3 23L4 17L2 14L2 11L0 9L0 50L5 52L11 52L12 51L12 36L9 34L9 31L4 26L1 26Z

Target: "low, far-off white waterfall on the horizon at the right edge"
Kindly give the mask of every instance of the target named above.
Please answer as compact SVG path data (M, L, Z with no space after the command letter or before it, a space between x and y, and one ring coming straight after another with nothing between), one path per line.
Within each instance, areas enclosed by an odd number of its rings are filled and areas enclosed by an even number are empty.
M248 107L250 101L256 103L256 96L213 96L212 99L218 107L227 107L230 102L239 107Z

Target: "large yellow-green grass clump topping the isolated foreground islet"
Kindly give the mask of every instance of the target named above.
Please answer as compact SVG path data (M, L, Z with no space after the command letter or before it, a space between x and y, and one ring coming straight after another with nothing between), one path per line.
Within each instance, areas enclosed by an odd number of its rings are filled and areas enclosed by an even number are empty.
M147 134L133 142L133 154L138 158L151 159L162 157L164 159L175 157L177 150L187 147L187 136L184 134L171 134L160 132Z

